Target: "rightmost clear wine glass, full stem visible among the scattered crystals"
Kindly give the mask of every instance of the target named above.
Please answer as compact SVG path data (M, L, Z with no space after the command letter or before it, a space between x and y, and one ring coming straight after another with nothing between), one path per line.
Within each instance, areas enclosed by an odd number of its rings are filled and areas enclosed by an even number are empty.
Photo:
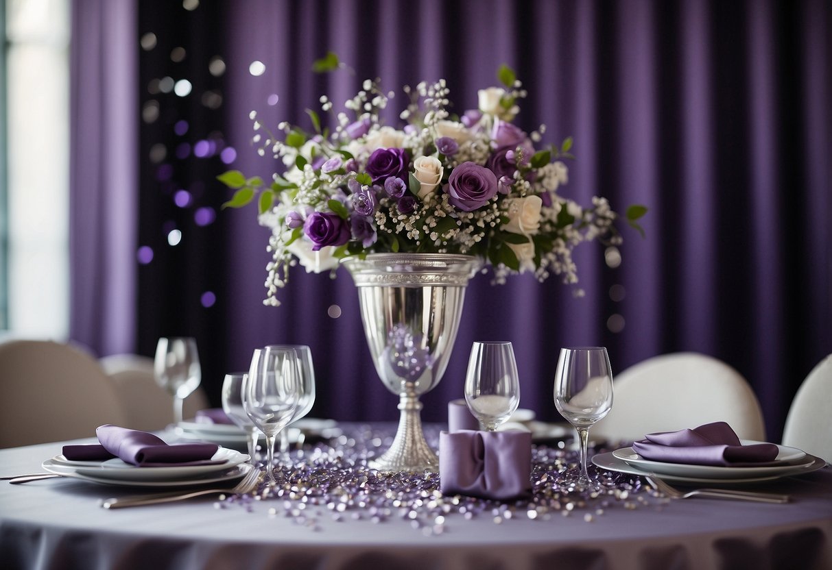
M577 484L598 489L587 474L589 427L612 408L612 367L602 346L562 348L555 371L555 406L577 430L581 473Z

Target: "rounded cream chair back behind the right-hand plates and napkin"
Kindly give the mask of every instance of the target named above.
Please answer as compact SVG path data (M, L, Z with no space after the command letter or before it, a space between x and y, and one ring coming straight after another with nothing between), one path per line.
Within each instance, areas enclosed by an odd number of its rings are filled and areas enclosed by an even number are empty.
M613 404L592 435L640 440L656 431L726 421L745 440L765 440L760 404L739 372L711 356L677 352L613 376Z

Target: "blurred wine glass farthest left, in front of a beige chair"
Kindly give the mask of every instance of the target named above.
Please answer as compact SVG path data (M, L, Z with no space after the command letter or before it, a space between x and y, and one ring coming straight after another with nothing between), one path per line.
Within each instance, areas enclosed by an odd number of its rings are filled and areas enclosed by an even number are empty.
M182 402L202 381L196 339L160 338L156 344L153 376L156 378L156 384L173 396L173 423L179 425L182 421Z

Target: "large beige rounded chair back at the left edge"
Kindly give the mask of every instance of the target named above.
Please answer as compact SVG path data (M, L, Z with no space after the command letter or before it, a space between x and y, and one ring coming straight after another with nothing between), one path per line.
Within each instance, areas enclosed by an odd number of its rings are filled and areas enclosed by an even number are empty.
M95 358L66 344L3 342L0 386L0 447L93 437L126 419Z

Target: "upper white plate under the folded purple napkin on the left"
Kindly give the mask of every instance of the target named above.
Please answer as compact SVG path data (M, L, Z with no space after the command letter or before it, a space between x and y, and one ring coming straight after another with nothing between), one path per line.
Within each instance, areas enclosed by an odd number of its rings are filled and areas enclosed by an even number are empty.
M95 477L97 479L121 479L125 481L173 481L178 479L193 479L204 474L225 471L245 461L249 456L239 451L220 447L211 459L222 461L211 465L186 465L179 467L136 467L125 463L121 459L106 459L105 461L72 461L63 455L56 455L47 459L52 466L72 469L77 474ZM46 469L46 462L44 462Z

